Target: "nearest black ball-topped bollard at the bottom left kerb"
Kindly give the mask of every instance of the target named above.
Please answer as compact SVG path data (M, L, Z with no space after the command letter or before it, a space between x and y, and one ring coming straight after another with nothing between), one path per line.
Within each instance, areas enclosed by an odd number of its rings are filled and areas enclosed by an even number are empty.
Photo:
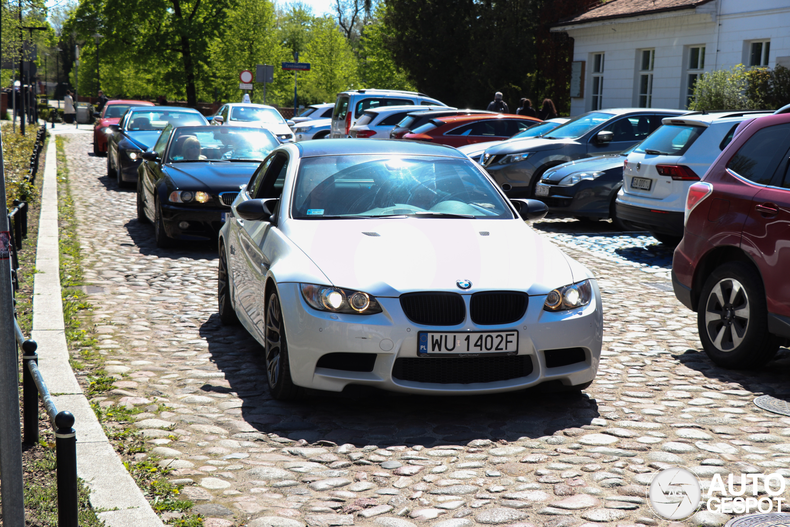
M58 527L77 523L77 435L74 416L63 410L55 416L55 469L58 479Z

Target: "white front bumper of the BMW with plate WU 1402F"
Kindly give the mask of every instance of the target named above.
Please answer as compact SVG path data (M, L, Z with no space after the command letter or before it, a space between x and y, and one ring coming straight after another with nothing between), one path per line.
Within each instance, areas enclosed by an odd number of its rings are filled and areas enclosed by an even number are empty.
M476 326L467 317L459 326L438 327L419 326L409 321L397 298L379 298L384 309L379 314L332 314L309 307L299 292L299 284L281 283L277 287L288 338L291 375L298 386L339 392L345 386L355 384L393 392L451 395L523 390L546 381L559 380L566 386L592 381L598 369L603 332L600 292L595 280L592 280L592 284L594 299L579 310L559 313L544 311L545 295L537 295L529 297L524 317L513 324ZM468 312L470 295L464 295L464 298ZM417 357L419 331L430 330L461 337L467 331L496 332L503 329L519 333L518 356L529 356L532 362L529 375L467 384L416 382L393 375L397 359ZM565 366L547 367L544 350L561 348L582 348L585 359ZM337 352L374 355L372 371L317 367L318 359ZM440 357L436 360L450 358Z

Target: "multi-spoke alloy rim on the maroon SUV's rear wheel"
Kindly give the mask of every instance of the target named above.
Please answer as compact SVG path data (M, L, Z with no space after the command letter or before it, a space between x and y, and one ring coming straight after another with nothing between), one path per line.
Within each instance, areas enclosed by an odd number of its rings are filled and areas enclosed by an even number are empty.
M750 304L746 289L734 278L719 280L705 303L705 329L722 352L737 348L749 328Z

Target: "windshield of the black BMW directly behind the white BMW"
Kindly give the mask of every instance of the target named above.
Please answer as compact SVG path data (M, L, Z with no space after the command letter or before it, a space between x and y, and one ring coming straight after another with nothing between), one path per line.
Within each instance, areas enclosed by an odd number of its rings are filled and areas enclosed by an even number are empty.
M280 145L269 130L240 126L186 126L173 130L165 163L262 161Z

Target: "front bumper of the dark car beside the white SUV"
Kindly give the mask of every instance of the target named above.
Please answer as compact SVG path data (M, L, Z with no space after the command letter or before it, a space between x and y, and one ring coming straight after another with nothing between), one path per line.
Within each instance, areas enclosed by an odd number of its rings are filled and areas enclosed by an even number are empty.
M608 218L611 199L620 188L620 181L607 181L602 175L598 179L585 180L574 186L536 185L535 199L548 205L552 213L567 213L572 216ZM548 187L548 196L537 195L538 187Z

